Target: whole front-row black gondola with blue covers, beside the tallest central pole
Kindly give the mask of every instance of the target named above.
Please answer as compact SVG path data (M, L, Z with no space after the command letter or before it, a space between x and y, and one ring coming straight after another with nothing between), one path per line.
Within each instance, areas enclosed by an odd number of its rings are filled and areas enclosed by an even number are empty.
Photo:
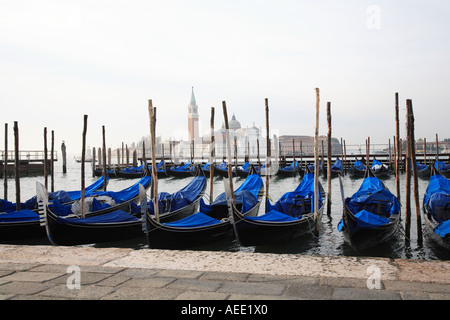
M319 220L324 198L319 184ZM273 205L266 201L266 213L261 216L246 216L233 207L234 231L242 245L286 242L314 232L314 174L309 169L294 191L285 193Z

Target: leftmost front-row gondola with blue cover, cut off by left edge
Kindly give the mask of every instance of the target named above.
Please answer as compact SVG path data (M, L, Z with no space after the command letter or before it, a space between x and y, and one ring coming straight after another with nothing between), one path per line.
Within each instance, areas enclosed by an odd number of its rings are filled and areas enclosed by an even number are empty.
M108 180L107 180L108 181ZM85 194L89 195L104 186L103 177L97 179L85 188ZM73 203L81 197L80 191L56 191L48 194L51 200L60 203ZM36 196L21 203L21 210L16 211L16 204L0 200L0 239L16 240L25 238L44 237L45 230L39 225L38 203Z

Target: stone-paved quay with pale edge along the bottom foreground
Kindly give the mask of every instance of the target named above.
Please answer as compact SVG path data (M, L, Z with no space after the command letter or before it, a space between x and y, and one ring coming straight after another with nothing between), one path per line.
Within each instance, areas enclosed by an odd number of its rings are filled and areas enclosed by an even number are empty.
M0 300L305 299L449 300L450 262L0 245Z

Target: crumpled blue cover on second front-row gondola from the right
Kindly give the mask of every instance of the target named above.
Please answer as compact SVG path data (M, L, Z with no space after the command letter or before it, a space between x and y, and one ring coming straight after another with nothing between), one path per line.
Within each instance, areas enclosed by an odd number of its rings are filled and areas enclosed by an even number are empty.
M365 206L375 205L377 202L384 202L381 207L382 215L389 217L391 214L400 212L400 204L397 198L383 187L383 183L376 177L367 177L363 180L361 187L351 198L345 199L345 203L350 211L356 215Z

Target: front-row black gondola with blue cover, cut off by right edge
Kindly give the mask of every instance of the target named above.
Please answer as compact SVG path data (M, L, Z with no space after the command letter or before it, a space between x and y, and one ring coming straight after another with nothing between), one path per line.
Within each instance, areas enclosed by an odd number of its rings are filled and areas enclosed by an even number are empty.
M422 213L430 237L450 250L450 180L435 168L423 197Z

